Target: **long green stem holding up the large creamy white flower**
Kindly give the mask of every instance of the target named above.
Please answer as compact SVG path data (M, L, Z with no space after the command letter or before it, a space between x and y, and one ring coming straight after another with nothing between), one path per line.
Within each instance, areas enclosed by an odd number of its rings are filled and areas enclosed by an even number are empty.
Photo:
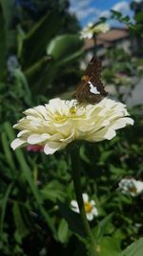
M89 225L89 222L87 221L87 215L85 212L84 202L82 198L82 190L81 190L81 184L80 184L80 160L79 160L79 149L73 148L71 151L71 159L72 159L72 178L73 178L73 185L75 190L75 195L80 211L81 220L83 222L85 231L87 233L87 236L89 237L92 245L92 250L94 252L94 256L97 256L96 252L96 242L94 240L94 237L92 235L92 230Z

